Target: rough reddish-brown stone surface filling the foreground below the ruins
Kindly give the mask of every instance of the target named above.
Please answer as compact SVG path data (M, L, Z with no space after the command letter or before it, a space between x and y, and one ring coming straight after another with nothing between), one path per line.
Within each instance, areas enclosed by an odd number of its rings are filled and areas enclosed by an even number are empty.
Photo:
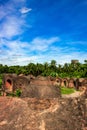
M87 99L0 97L0 130L87 130Z

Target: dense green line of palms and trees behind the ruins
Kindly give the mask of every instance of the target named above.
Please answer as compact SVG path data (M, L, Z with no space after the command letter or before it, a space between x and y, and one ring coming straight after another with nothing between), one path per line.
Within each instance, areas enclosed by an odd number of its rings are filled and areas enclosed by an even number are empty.
M87 60L84 63L65 63L64 65L58 64L55 60L50 63L29 63L26 66L7 66L0 64L0 74L3 73L16 73L34 76L52 76L52 77L70 77L70 78L85 78L87 77Z

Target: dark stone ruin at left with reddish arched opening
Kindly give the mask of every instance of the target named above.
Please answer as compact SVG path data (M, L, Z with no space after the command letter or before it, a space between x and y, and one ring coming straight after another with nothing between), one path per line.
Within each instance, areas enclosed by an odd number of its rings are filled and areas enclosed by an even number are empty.
M3 91L10 93L15 92L17 89L26 89L30 83L30 79L25 76L17 76L16 74L3 75Z

